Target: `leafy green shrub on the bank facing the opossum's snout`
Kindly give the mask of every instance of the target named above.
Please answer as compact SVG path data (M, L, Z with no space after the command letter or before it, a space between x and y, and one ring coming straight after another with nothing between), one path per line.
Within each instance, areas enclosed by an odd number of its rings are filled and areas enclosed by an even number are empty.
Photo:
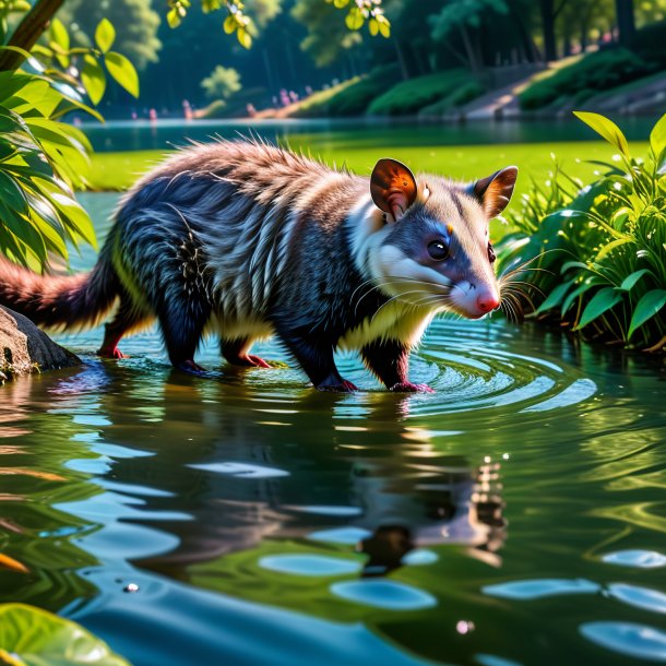
M666 346L666 116L650 157L634 159L610 120L576 114L619 151L606 174L581 187L556 168L510 216L519 229L498 247L510 302L520 277L531 307L586 338L649 350Z

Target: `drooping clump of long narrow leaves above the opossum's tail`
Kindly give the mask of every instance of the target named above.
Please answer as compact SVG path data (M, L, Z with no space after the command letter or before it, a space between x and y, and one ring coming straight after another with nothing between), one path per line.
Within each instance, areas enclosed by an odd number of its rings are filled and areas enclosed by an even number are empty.
M68 240L95 243L73 195L74 186L84 183L90 144L58 120L84 105L49 83L0 72L0 252L33 266L44 266L48 252L67 259Z

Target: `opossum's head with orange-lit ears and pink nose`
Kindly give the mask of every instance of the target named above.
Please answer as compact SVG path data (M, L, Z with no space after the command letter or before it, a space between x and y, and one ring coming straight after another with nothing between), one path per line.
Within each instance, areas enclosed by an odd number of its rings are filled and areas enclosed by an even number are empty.
M500 305L488 223L511 199L518 168L464 186L380 159L370 193L381 216L368 269L399 300L478 319ZM381 213L380 213L381 211ZM377 219L377 217L376 217Z

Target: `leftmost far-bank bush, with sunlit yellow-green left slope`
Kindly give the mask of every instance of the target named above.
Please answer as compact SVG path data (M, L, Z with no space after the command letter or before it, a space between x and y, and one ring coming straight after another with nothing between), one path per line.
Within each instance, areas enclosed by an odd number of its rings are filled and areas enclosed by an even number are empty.
M326 91L314 93L293 114L298 118L324 116L362 116L368 105L393 86L400 76L395 64L372 70L365 76L355 76Z

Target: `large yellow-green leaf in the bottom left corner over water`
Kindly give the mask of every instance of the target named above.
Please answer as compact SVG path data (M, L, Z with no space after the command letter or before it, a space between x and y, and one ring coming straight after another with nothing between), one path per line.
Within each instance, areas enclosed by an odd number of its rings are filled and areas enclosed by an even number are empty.
M130 666L80 625L25 604L0 605L0 645L26 664Z

